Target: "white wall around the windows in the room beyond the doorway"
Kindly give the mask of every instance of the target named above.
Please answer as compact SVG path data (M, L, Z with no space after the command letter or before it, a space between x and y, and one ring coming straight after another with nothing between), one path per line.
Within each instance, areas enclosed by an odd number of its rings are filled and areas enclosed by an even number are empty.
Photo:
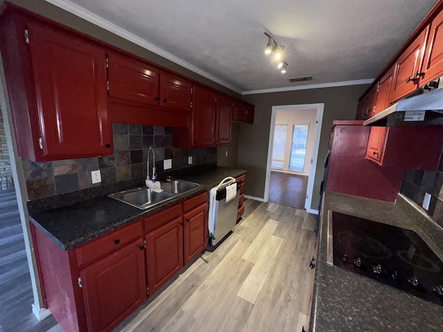
M312 158L312 153L314 151L316 115L317 115L316 109L284 109L284 110L279 109L275 114L275 123L287 122L288 124L288 131L286 138L286 156L284 161L285 169L287 169L288 167L289 155L291 154L292 130L289 130L289 128L292 128L294 124L300 124L300 122L302 122L303 124L309 123L309 132L307 138L306 157L305 157L305 169L303 170L303 172L291 172L291 173L302 174L306 176L309 175L309 170L311 168L310 162Z

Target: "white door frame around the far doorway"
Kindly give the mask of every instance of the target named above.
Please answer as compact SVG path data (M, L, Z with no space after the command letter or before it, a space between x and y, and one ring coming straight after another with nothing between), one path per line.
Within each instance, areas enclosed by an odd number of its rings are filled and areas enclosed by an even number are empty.
M269 186L271 181L271 163L272 163L272 149L273 149L273 137L275 129L275 115L279 110L294 110L302 111L304 109L316 109L316 124L315 124L315 138L314 138L314 151L312 153L312 163L311 169L309 171L308 181L307 181L307 191L305 199L305 209L307 212L312 214L318 214L318 210L311 209L312 196L314 195L314 180L317 169L317 159L318 159L318 148L320 147L320 134L321 126L323 122L323 111L325 110L324 103L318 104L296 104L296 105L275 105L272 107L271 113L271 124L269 128L269 145L268 145L268 159L266 163L266 180L264 182L264 201L269 201Z

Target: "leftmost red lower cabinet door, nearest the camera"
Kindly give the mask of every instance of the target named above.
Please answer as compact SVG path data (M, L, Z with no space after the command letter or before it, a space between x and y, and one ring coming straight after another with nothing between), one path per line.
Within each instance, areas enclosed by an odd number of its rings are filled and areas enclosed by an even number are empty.
M111 331L146 299L140 239L80 273L88 331Z

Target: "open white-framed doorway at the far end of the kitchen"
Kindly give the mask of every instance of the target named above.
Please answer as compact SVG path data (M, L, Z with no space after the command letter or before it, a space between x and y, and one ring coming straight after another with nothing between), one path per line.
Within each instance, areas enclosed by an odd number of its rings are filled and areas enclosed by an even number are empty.
M274 106L264 200L311 209L324 104Z

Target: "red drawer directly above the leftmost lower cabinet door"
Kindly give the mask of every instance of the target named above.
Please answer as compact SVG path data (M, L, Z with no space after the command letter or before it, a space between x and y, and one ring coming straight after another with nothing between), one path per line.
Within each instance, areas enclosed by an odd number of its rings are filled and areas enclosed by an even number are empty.
M142 236L143 231L141 221L136 221L132 225L111 232L111 234L105 235L105 237L98 240L94 240L76 250L78 266L82 267L91 264L101 257L107 256L111 252L123 248L127 243Z

